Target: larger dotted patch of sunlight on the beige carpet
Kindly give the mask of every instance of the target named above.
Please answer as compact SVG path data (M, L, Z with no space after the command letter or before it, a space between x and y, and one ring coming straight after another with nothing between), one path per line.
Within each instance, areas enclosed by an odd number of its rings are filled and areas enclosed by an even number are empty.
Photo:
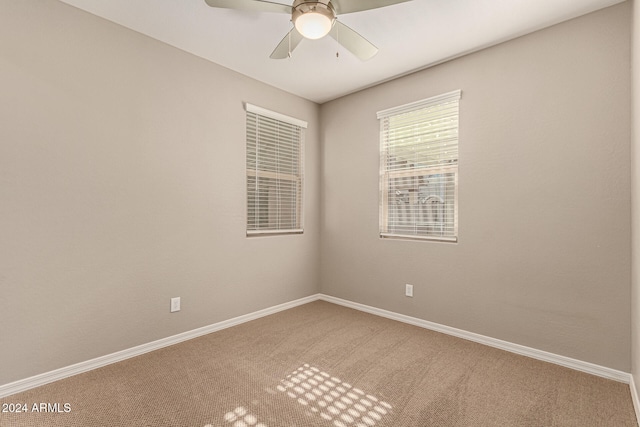
M308 364L287 375L277 390L335 427L374 427L392 409L389 403Z

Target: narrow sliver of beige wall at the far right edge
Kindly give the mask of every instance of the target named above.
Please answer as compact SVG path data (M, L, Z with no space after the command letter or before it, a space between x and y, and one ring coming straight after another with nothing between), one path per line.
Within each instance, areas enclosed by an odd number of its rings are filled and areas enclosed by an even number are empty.
M640 4L633 1L631 108L631 373L640 395ZM639 408L640 409L640 408Z

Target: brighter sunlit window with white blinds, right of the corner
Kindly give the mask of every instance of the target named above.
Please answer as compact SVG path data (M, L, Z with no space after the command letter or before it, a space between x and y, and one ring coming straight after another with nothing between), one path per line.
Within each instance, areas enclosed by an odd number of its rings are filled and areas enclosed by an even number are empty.
M380 237L458 239L460 91L378 112Z

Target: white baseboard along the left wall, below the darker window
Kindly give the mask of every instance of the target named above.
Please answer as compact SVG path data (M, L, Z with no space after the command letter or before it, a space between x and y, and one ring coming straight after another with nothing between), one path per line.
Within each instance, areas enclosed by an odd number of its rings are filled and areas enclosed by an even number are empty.
M318 298L319 298L319 295L317 294L300 298L295 301L286 302L284 304L279 304L273 307L265 308L264 310L259 310L253 313L245 314L243 316L234 317L232 319L224 320L222 322L214 323L212 325L203 326L202 328L193 329L191 331L183 332L181 334L173 335L167 338L162 338L157 341L152 341L147 344L142 344L126 350L118 351L116 353L108 354L106 356L101 356L95 359L87 360L85 362L76 363L75 365L56 369L55 371L45 372L43 374L35 375L30 378L18 380L9 384L4 384L0 386L0 398L7 397L12 394L20 393L22 391L39 387L54 381L64 379L64 378L68 378L73 375L81 374L83 372L87 372L93 369L101 368L103 366L120 362L120 361L129 359L131 357L140 356L141 354L158 350L163 347L168 347L170 345L178 344L182 341L187 341L202 335L206 335L222 329L230 328L232 326L236 326L241 323L259 319L260 317L268 316L270 314L274 314L279 311L297 307L302 304L307 304L309 302L318 300Z

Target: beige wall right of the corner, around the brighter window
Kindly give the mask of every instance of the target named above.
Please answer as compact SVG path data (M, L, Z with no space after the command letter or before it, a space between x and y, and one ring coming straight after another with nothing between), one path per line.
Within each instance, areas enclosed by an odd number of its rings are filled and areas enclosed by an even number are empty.
M629 372L629 14L322 105L322 291ZM380 240L376 111L455 89L459 243Z

